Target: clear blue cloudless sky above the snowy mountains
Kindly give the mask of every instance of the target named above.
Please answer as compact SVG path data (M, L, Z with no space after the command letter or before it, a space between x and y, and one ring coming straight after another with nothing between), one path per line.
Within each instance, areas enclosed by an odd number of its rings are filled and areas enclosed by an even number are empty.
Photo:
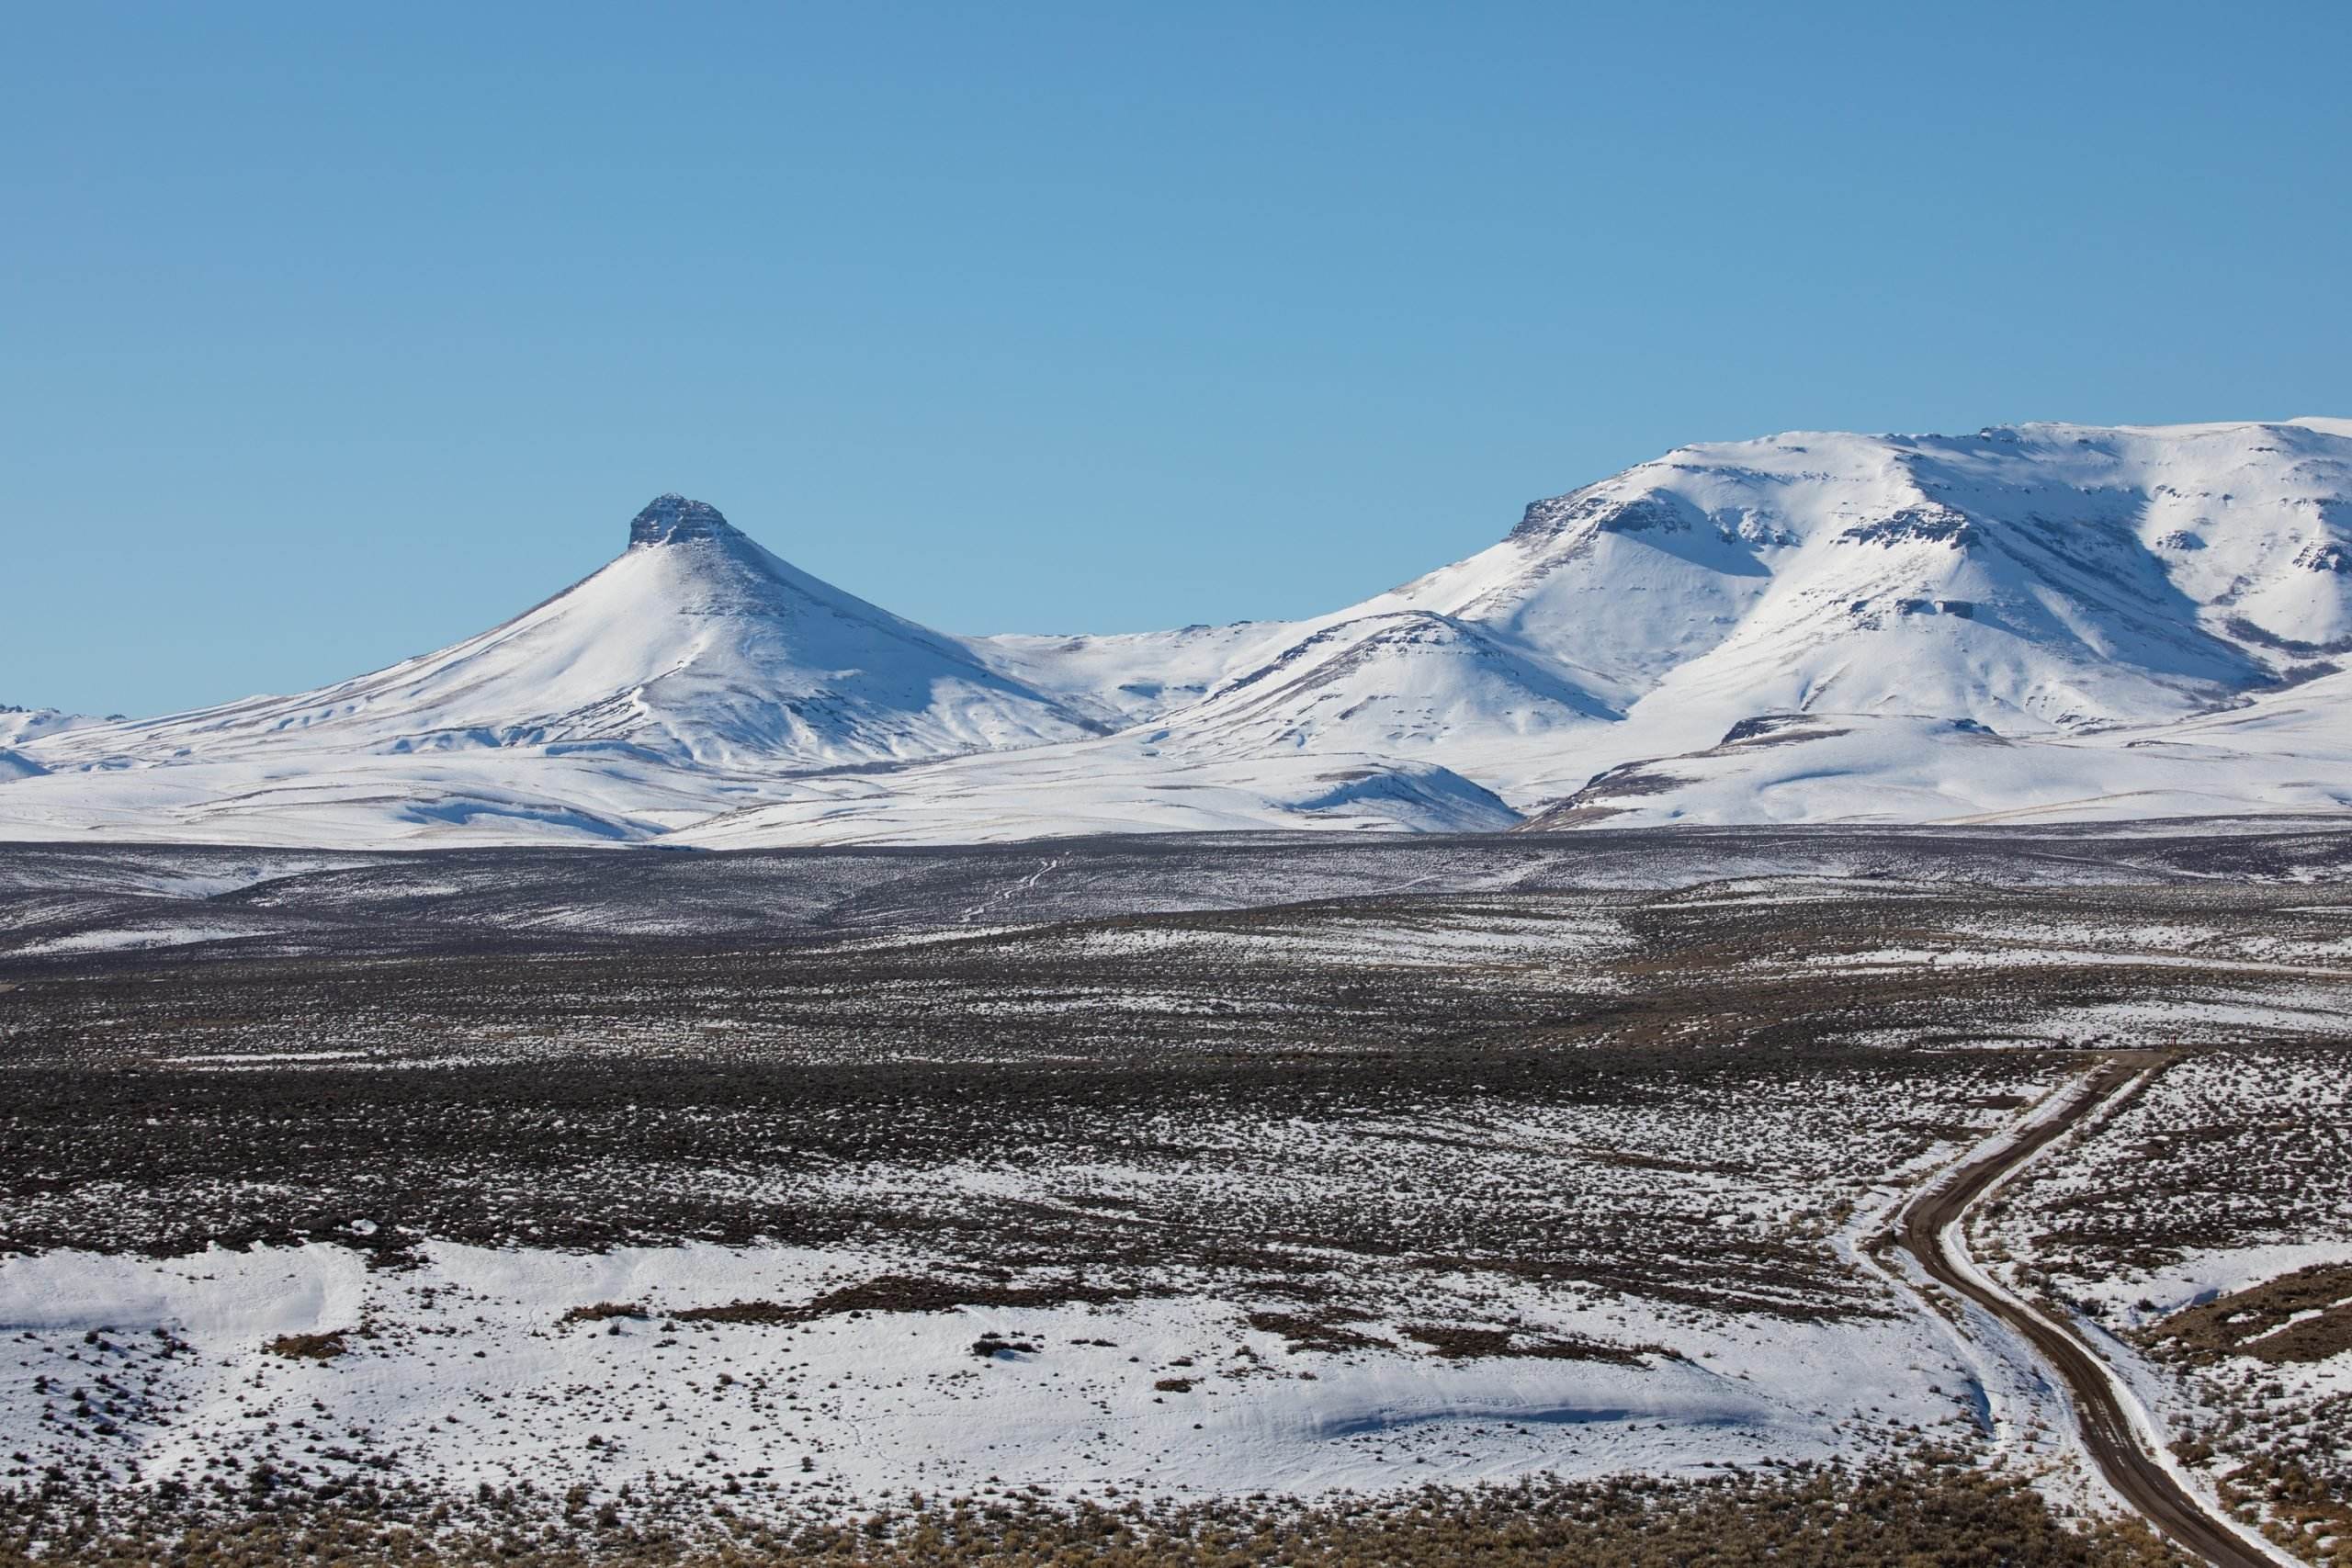
M2352 5L0 0L0 701L680 489L948 630L1345 604L1693 440L2352 414Z

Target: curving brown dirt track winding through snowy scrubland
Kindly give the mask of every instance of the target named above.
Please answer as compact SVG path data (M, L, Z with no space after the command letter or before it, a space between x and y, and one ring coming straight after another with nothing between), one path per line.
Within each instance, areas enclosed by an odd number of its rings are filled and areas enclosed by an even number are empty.
M2100 1474L2147 1523L2173 1544L2194 1552L2216 1568L2277 1568L2281 1559L2265 1554L2218 1519L2209 1505L2190 1495L2133 1434L2114 1373L2070 1331L2020 1309L2006 1295L1987 1291L1955 1260L1952 1237L1969 1206L2009 1171L2023 1166L2056 1138L2091 1117L2119 1093L2136 1093L2145 1072L2161 1065L2150 1056L2119 1056L2100 1065L2067 1107L1952 1171L1950 1178L1912 1199L1896 1220L1896 1241L1919 1260L1929 1276L1966 1295L1985 1312L2016 1328L2027 1345L2058 1373L2082 1422L2084 1446Z

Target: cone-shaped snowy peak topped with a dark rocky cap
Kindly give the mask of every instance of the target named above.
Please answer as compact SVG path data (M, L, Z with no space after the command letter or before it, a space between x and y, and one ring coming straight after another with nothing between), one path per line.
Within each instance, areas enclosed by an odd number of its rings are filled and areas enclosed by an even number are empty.
M1098 733L971 649L659 496L602 571L480 637L303 691L80 729L59 759L233 762L480 748L677 766L842 766Z

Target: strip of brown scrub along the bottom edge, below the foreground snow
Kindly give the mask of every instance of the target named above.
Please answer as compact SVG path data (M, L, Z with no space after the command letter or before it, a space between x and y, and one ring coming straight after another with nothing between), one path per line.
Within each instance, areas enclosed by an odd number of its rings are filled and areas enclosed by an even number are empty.
M230 1521L99 1523L0 1500L0 1568L59 1561L275 1568L2185 1568L2140 1526L2074 1530L2042 1497L1973 1469L1809 1472L1705 1483L1529 1483L1475 1493L1145 1505L955 1497L863 1521L753 1526L715 1512L670 1535L619 1509L562 1523L492 1497L480 1519L390 1519L353 1500L256 1507ZM42 1542L35 1547L35 1542Z

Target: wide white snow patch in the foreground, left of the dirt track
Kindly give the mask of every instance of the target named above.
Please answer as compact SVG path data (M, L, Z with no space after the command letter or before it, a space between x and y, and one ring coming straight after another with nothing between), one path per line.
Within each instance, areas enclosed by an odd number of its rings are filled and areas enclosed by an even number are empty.
M1531 1284L1477 1328L1350 1319L1362 1342L1334 1349L1291 1347L1251 1324L1279 1316L1265 1300L1185 1276L1103 1305L694 1316L934 1279L920 1267L717 1246L428 1244L400 1272L334 1244L42 1253L0 1267L14 1361L0 1422L35 1467L96 1462L118 1483L134 1467L198 1488L249 1486L259 1465L303 1486L381 1467L459 1497L635 1483L713 1488L741 1509L1000 1486L1240 1495L1684 1474L1867 1458L1912 1427L1971 1425L1964 1375L1905 1319L1562 1312ZM1449 1354L1414 1333L1496 1321L1517 1324L1517 1354ZM289 1335L334 1335L332 1354L270 1349Z

